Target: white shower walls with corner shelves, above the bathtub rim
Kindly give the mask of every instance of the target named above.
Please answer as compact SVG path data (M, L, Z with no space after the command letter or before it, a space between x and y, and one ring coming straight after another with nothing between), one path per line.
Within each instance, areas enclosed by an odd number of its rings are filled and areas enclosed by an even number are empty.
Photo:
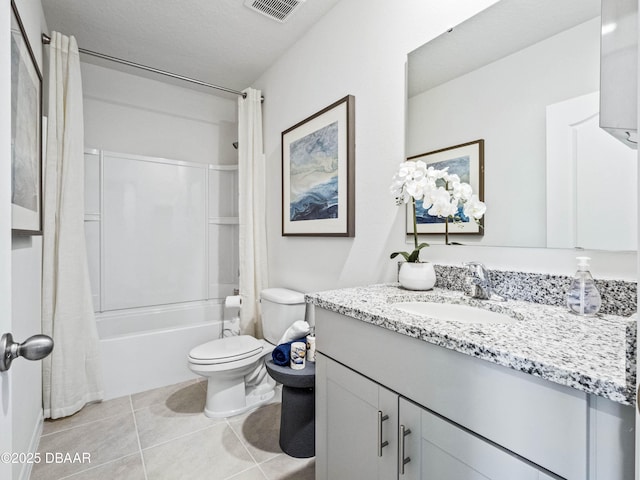
M96 311L223 298L238 285L237 169L87 151Z

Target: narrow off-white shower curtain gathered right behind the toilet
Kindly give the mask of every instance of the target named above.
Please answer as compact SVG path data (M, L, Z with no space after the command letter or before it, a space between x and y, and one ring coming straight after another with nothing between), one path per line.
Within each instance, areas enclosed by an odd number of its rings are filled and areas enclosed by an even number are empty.
M238 99L240 328L260 337L260 291L268 282L262 102L260 90L244 93Z

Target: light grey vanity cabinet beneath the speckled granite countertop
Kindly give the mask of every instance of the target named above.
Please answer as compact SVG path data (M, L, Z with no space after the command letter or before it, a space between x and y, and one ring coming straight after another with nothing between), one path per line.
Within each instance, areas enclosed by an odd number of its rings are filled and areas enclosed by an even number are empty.
M317 480L633 478L631 406L319 307L315 324Z

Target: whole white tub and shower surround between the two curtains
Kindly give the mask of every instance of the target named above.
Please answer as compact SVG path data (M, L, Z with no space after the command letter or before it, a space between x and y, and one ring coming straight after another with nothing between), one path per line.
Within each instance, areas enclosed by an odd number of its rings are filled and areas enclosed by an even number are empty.
M194 378L238 288L237 167L85 152L85 231L105 398Z

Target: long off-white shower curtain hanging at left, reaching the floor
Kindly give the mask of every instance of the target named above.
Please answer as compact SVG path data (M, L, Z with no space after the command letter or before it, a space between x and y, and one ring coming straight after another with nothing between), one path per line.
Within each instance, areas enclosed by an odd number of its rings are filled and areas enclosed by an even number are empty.
M71 415L102 398L100 349L84 236L84 126L78 45L53 32L44 170L42 332L45 418Z

